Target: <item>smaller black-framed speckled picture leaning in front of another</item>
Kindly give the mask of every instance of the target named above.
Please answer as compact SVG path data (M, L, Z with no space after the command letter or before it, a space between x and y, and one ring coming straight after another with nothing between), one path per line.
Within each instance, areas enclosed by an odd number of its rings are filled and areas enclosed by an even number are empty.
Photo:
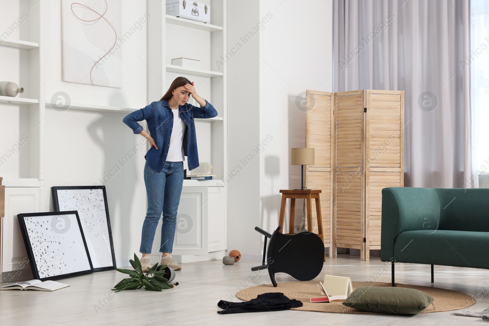
M93 272L77 211L26 213L17 218L35 279L58 280Z

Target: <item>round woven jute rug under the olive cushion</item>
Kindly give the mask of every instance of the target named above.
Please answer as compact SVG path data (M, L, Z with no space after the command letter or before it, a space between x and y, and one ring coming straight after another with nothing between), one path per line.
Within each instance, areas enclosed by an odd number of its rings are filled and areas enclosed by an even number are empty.
M362 286L387 287L391 286L391 283L352 282L352 285L353 289L356 289L357 287ZM465 293L460 293L457 291L441 289L438 287L401 283L396 283L396 286L420 290L429 294L433 297L433 299L435 299L421 313L459 310L475 304L474 298ZM319 281L284 282L278 283L277 287L273 287L272 284L262 284L245 288L237 292L236 296L241 300L250 301L251 299L255 299L259 294L268 292L281 292L289 299L302 301L302 307L292 308L291 310L338 312L350 314L374 314L374 312L360 311L354 308L347 307L346 305L343 305L341 303L310 303L309 301L311 298L319 298L324 296L321 294L321 290L319 289Z

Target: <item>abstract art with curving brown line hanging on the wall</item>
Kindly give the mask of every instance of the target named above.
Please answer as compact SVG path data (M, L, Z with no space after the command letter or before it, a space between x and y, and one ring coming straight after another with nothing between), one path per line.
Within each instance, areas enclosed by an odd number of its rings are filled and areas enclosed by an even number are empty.
M122 88L121 0L61 2L63 81Z

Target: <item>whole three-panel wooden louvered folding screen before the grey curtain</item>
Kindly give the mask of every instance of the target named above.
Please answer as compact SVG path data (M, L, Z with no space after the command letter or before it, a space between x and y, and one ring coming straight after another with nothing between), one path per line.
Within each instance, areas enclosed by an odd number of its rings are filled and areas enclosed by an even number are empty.
M330 231L325 244L330 257L342 247L360 249L361 260L369 260L369 250L380 249L381 190L404 185L404 92L307 92L312 95L316 104L306 114L306 147L333 153L323 160L316 154L319 161L306 172L310 189L333 198L333 207L321 210L323 229ZM324 115L329 120L319 124Z

